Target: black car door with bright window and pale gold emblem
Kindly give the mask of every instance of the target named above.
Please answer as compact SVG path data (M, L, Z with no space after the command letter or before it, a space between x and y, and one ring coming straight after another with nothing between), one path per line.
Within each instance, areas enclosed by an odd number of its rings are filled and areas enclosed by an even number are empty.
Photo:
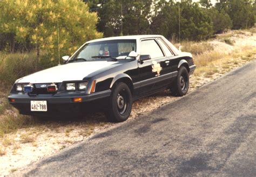
M163 81L163 76L167 70L166 65L169 58L165 57L157 39L147 38L140 42L140 56L150 55L151 59L139 62L139 77L140 77L140 94L141 96L153 93L160 81ZM166 63L165 63L166 62ZM170 63L170 62L169 62ZM168 64L169 65L169 64ZM160 87L166 86L166 83L160 84Z

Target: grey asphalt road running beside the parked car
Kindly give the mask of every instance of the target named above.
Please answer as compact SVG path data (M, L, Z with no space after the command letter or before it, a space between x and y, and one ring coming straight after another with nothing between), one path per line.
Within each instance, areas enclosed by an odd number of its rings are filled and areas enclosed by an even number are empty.
M256 60L23 173L256 176Z

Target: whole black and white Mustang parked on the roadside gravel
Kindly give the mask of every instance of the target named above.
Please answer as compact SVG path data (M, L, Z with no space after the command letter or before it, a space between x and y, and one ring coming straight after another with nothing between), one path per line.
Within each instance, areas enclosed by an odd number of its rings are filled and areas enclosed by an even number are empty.
M132 101L170 88L184 96L196 69L191 53L159 35L91 40L64 65L16 80L9 102L21 114L83 115L91 107L125 121ZM92 106L93 105L93 106Z

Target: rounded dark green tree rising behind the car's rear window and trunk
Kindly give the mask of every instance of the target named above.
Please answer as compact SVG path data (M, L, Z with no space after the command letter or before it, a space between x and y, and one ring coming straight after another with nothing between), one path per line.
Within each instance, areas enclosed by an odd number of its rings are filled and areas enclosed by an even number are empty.
M198 3L182 1L179 3L160 1L161 10L152 18L152 33L164 35L166 38L179 36L188 40L202 40L212 36L213 26L206 12ZM162 29L163 26L163 29Z

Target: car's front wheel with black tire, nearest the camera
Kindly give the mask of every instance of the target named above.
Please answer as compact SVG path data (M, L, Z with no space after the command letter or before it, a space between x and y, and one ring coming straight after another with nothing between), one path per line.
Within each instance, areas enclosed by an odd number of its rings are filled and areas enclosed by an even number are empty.
M111 122L122 122L129 118L132 110L132 94L125 83L117 83L111 92L105 115Z

